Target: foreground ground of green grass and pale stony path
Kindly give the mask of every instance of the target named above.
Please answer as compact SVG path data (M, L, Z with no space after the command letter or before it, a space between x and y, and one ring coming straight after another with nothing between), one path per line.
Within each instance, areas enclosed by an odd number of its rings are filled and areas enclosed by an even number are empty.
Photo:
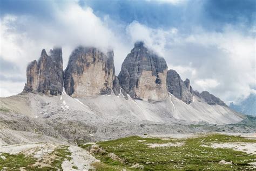
M0 170L256 169L255 133L142 135L0 146Z

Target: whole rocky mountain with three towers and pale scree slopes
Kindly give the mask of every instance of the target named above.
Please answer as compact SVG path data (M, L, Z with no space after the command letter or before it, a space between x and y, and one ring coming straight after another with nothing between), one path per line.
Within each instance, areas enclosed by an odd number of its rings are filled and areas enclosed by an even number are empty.
M11 144L32 133L38 141L40 134L79 144L145 133L255 130L234 128L245 116L206 91L193 91L190 80L167 71L143 42L126 56L118 77L113 51L95 47L77 47L64 74L62 65L61 48L43 49L28 66L24 91L0 98L0 143L1 136Z

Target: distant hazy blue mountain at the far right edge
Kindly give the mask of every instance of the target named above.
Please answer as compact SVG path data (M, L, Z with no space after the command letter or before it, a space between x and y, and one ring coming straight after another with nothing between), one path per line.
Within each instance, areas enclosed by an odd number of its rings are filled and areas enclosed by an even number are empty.
M239 104L230 103L230 108L237 112L256 116L256 94L250 94Z

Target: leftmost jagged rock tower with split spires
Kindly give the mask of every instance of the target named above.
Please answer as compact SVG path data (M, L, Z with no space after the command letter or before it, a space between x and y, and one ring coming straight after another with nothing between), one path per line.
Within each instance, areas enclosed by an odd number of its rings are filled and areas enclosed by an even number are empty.
M45 49L37 61L26 68L24 92L42 92L46 95L60 95L63 87L62 48L54 47L49 55Z

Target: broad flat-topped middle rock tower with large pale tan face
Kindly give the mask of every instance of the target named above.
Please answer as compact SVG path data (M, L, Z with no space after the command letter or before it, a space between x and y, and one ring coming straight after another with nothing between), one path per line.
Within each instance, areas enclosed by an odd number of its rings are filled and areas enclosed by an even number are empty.
M105 54L95 47L76 48L65 69L66 93L72 97L111 94L115 79L113 57L113 51Z

